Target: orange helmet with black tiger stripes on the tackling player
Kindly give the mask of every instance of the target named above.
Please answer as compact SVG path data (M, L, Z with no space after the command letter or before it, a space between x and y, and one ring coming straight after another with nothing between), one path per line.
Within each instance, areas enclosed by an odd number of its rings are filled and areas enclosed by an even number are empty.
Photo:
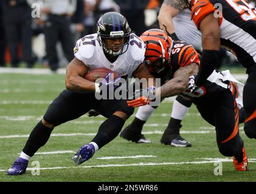
M150 29L140 36L146 45L145 61L151 73L160 73L171 63L173 40L159 29Z

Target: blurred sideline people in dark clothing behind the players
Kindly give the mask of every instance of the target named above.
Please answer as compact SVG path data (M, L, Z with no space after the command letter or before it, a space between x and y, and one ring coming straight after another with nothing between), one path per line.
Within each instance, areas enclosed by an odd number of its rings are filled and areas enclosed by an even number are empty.
M0 66L36 65L55 72L74 58L77 39L96 33L106 12L119 12L133 33L158 27L157 13L164 0L1 0ZM39 10L37 9L39 8ZM223 63L235 64L223 50Z

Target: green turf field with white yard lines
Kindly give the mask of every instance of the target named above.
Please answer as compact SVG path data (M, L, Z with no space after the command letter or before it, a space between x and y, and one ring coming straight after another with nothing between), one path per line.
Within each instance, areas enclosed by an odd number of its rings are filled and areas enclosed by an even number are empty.
M218 152L214 128L198 115L194 105L181 130L192 147L161 145L159 141L169 119L171 101L164 101L145 126L145 136L152 144L135 144L117 136L92 159L75 166L71 161L74 152L91 141L104 120L85 115L57 127L46 146L38 151L41 154L30 160L26 174L7 176L6 170L19 156L27 141L26 135L63 89L64 75L0 74L0 181L256 181L255 140L248 139L240 127L249 171L236 172L232 158ZM112 158L103 158L109 156ZM125 156L127 158L123 158ZM31 169L35 161L40 164L40 175L32 175L38 172ZM222 175L215 175L215 168L220 164Z

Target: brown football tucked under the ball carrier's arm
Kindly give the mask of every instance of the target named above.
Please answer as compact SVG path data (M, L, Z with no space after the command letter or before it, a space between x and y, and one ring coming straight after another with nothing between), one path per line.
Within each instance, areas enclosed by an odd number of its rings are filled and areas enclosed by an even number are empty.
M118 76L117 73L113 72L112 70L102 67L102 68L97 68L89 71L86 74L85 79L95 82L99 78L105 78L106 75L108 75L108 73L113 73L114 75L113 79L116 79Z

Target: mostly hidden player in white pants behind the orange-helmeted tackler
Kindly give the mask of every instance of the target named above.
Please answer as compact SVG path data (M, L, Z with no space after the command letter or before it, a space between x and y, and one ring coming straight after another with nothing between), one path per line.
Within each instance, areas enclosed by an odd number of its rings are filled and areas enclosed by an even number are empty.
M187 42L196 50L201 50L201 32L191 20L190 10L185 7L184 0L164 0L157 17L160 28L164 30L173 40ZM161 143L175 147L190 147L192 144L179 134L181 121L192 105L181 96L177 96L173 102L173 110L167 129L161 138ZM140 107L133 122L128 125L121 136L133 142L150 143L151 140L142 134L142 125L147 121L156 107L145 105ZM133 132L136 131L136 134ZM130 134L130 135L129 135Z

